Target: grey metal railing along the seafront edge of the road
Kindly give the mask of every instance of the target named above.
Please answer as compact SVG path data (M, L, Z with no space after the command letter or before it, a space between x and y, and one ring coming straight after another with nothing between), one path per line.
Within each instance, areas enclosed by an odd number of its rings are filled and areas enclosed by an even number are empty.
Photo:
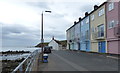
M40 49L33 51L12 71L12 73L29 73L39 53Z

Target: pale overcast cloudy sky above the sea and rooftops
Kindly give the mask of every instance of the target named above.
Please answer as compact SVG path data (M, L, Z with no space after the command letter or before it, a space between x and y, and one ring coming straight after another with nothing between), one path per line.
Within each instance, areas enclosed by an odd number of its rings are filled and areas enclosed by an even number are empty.
M0 46L35 46L44 41L66 39L66 30L106 0L0 0ZM44 11L50 10L51 13Z

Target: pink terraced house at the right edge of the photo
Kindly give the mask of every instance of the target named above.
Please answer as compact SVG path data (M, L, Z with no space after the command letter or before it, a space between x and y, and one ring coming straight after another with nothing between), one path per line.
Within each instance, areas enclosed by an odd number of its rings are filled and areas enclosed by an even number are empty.
M120 54L120 1L107 2L107 52Z

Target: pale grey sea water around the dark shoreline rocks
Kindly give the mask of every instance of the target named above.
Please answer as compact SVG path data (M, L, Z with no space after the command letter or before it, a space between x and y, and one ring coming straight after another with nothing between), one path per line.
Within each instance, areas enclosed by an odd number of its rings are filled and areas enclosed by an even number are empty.
M0 52L5 52L5 51L30 51L33 52L36 49L41 49L41 48L36 48L36 47L0 47ZM0 54L0 60L17 60L21 58L25 58L30 53L25 53L25 54L16 54L16 55L2 55Z

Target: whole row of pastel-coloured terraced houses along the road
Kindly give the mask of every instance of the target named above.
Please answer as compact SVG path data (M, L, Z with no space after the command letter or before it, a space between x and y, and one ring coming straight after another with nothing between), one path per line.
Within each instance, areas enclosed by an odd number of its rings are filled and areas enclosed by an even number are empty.
M95 5L67 30L67 40L71 50L120 54L120 1Z

